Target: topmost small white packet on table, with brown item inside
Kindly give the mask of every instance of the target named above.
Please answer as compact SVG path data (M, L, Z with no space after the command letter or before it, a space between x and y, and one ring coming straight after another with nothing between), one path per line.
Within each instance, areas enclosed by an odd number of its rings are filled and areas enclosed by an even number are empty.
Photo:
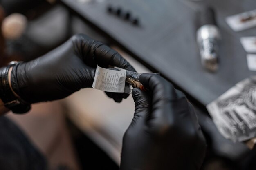
M256 26L256 9L232 15L226 18L227 24L234 31L242 31Z

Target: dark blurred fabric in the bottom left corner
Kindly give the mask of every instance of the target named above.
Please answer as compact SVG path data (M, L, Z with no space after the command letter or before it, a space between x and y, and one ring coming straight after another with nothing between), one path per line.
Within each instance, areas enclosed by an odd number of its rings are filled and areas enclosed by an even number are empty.
M47 170L43 155L7 117L0 117L0 170Z

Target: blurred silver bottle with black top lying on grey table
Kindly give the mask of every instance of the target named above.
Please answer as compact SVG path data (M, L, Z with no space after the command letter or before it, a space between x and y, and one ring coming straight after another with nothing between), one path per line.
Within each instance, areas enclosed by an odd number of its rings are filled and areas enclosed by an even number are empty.
M207 7L200 13L200 28L197 31L197 42L202 66L208 71L218 69L220 31L216 25L212 8Z

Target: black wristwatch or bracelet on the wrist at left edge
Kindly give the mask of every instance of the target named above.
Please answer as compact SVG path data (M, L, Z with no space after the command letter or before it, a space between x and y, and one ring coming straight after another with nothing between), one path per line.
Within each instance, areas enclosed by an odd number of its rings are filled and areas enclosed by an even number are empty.
M12 65L0 68L0 98L4 106L12 110L13 113L26 113L31 108L30 104L16 97L8 82L8 71Z

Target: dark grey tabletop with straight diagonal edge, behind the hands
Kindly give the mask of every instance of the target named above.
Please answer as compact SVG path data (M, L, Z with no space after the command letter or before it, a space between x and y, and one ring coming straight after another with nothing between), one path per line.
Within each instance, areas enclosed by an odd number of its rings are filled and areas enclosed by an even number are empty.
M201 104L208 104L255 72L247 68L246 52L240 37L256 35L256 28L234 32L225 18L256 9L255 0L60 0L88 23L117 42L141 62L160 72ZM205 71L195 40L198 9L212 6L222 34L220 64L216 73ZM139 18L134 25L107 7L121 7Z

